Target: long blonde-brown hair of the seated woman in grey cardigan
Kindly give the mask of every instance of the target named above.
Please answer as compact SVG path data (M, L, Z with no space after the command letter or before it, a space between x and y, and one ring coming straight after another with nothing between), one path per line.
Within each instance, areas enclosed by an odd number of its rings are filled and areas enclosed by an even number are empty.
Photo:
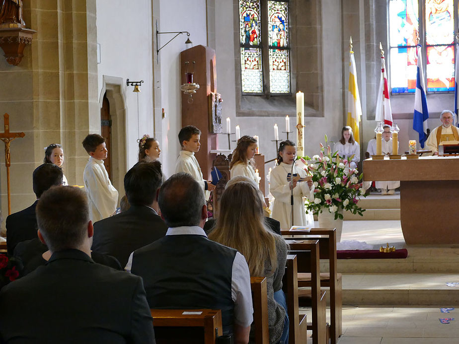
M265 224L258 190L247 182L227 188L220 200L219 217L209 239L239 251L247 261L251 276L272 274L277 268L276 240Z

